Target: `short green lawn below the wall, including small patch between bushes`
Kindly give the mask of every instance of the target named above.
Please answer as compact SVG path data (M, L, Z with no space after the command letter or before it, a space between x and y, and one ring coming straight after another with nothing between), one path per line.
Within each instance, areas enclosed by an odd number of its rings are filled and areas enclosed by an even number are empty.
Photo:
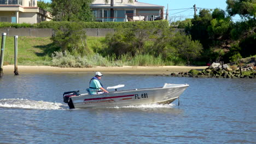
M2 41L2 37L0 37ZM102 49L104 37L88 37L89 49ZM52 65L51 53L56 51L50 37L18 38L18 65ZM4 48L4 64L14 64L14 37L6 37Z

